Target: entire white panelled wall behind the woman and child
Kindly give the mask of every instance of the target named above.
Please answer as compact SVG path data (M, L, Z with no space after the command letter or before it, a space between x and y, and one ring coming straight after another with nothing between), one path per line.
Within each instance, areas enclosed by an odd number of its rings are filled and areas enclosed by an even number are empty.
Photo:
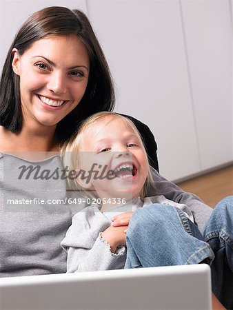
M19 25L45 6L88 14L116 110L149 125L161 174L177 180L232 161L230 0L1 0L1 66Z

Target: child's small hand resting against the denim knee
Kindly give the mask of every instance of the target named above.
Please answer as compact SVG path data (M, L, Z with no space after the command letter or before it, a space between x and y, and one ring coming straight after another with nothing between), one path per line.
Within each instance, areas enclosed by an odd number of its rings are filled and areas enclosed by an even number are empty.
M101 236L110 244L112 253L115 253L119 245L125 245L126 228L125 226L110 226L102 232Z

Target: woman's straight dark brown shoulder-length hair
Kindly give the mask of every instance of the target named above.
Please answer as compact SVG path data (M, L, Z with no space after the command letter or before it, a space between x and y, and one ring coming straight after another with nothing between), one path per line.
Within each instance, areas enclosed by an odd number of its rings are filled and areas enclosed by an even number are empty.
M114 88L108 63L88 18L79 10L59 6L34 12L17 33L3 66L0 81L0 125L12 132L21 129L22 113L19 76L12 70L12 49L22 55L37 40L50 35L76 34L88 49L90 74L85 94L79 105L57 125L57 138L63 142L86 117L114 108Z

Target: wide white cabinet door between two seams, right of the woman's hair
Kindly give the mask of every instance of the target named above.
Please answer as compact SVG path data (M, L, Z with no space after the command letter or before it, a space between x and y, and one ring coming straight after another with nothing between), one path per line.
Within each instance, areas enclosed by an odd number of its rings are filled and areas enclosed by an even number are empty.
M179 1L88 1L117 86L117 111L149 125L160 172L200 171Z

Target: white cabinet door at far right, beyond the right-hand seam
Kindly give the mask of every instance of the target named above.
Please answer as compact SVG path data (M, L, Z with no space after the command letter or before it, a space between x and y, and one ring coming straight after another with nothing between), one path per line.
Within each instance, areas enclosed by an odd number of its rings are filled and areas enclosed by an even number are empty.
M232 158L230 1L181 1L201 169Z

